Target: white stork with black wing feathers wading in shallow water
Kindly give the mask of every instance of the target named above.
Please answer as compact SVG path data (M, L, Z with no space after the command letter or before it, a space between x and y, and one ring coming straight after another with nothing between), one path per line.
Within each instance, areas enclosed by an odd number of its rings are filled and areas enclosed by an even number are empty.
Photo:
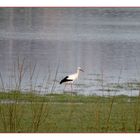
M66 76L64 79L60 81L60 84L65 83L65 87L67 84L71 84L71 91L72 91L72 84L76 79L78 79L80 71L84 72L80 67L78 67L76 73Z

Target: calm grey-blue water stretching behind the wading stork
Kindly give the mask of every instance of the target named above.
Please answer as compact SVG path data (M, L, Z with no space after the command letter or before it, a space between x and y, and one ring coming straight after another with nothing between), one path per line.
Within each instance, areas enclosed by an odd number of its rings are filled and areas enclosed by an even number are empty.
M80 66L85 72L74 91L138 95L140 9L0 8L0 72L9 90L17 80L18 57L20 63L25 58L25 91L32 81L35 90L60 93L59 81Z

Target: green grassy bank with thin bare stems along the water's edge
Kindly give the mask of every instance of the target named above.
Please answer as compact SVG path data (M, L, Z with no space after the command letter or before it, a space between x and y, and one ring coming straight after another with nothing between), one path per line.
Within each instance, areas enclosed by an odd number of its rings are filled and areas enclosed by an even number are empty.
M140 97L1 92L0 132L140 132Z

